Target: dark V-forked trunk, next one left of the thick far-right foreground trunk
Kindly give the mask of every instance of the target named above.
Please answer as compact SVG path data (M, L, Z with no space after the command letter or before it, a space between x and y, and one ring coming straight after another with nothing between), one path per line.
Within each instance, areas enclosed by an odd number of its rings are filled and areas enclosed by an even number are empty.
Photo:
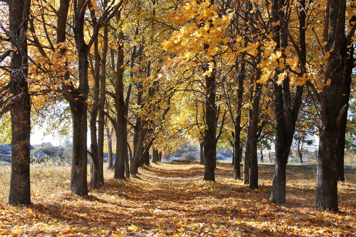
M301 4L304 0L300 1ZM273 7L276 11L283 16L283 19L279 19L276 12L272 12L272 21L278 22L284 21L284 18L288 18L288 11L284 8L284 0L273 0ZM304 73L305 70L305 13L303 9L299 9L299 62L300 68ZM280 22L280 21L279 21ZM286 28L282 27L282 24L272 27L274 32L274 41L277 43L276 48L281 49L282 56L284 55L284 49L288 46L288 36ZM295 131L295 123L297 122L300 105L302 104L302 95L304 86L297 86L295 90L294 101L291 96L291 89L289 85L289 77L284 79L281 84L278 85L278 74L281 71L276 72L274 79L274 113L276 120L276 135L275 135L275 151L276 161L275 170L273 174L272 191L269 196L269 201L272 203L286 203L286 166L288 162L288 156L290 152L290 146L292 145L293 135Z

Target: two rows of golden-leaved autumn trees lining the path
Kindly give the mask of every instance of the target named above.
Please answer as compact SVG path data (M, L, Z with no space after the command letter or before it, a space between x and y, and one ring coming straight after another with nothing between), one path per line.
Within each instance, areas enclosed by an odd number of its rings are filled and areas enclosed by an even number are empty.
M9 204L31 203L31 126L70 119L63 133L73 133L70 190L77 195L88 195L87 139L90 189L104 183L104 151L114 178L127 179L150 165L150 153L156 163L162 152L194 140L204 180L215 181L217 146L230 146L231 178L251 189L258 188L257 151L274 150L269 201L283 204L291 149L301 160L319 136L315 205L338 211L344 151L355 150L354 4L0 1L0 133L11 131Z

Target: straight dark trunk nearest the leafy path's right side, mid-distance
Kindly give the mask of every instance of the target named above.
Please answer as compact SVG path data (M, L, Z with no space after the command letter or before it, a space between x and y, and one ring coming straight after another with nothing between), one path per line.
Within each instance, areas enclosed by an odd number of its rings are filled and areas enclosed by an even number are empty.
M214 61L215 64L215 61ZM214 65L216 66L216 65ZM216 157L216 106L215 106L215 69L210 76L205 76L206 102L205 102L205 129L204 135L204 179L215 181L215 157Z

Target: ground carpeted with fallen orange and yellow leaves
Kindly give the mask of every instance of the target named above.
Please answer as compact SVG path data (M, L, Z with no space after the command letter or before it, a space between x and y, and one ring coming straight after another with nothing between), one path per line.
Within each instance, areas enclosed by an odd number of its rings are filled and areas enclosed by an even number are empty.
M25 207L6 205L10 167L0 166L0 236L356 236L355 168L339 183L337 214L314 210L315 166L288 166L285 205L268 201L273 165L259 171L255 190L227 163L216 182L196 162L140 168L129 181L105 171L105 185L80 198L68 192L70 167L34 165Z

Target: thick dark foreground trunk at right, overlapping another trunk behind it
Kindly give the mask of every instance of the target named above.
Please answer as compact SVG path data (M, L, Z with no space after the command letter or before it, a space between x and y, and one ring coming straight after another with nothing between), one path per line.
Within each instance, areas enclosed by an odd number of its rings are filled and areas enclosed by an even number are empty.
M340 160L343 158L340 154L342 151L337 151L335 147L344 150L344 116L347 114L350 95L351 65L354 64L352 41L350 43L345 36L345 11L345 0L330 0L330 38L325 47L331 46L333 51L325 71L325 81L330 81L330 85L323 87L323 100L320 105L319 160L315 190L316 208L330 211L339 210L337 179L340 178ZM352 17L350 22L354 24L354 20L355 17ZM351 54L347 55L348 53ZM341 78L343 80L340 80Z

